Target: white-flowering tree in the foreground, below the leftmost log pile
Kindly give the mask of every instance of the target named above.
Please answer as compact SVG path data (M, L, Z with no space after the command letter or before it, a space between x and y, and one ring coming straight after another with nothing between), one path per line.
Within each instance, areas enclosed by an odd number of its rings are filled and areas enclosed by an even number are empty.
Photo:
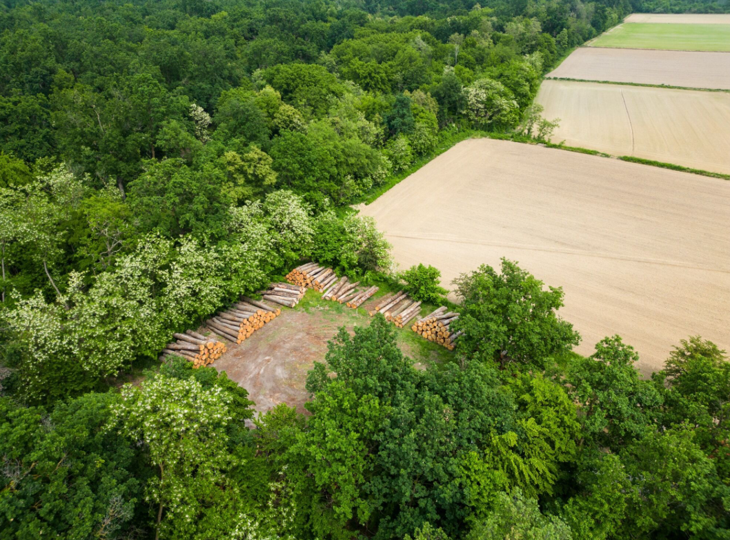
M146 450L158 471L145 497L155 505L155 539L193 539L201 531L223 538L240 514L237 487L226 471L237 465L228 450L231 398L196 379L155 376L125 385L110 429Z

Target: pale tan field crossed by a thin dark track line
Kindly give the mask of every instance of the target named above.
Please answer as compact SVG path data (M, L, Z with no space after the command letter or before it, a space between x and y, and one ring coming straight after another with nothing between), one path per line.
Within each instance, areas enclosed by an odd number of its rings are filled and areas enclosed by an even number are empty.
M730 173L730 93L545 80L553 142Z

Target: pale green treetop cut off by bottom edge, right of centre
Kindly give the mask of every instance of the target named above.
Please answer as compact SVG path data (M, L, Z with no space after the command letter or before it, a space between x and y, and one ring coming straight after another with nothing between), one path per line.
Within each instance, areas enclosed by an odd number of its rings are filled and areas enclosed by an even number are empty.
M467 540L572 540L568 525L556 516L540 513L537 501L526 498L520 490L501 493L494 512L477 524Z

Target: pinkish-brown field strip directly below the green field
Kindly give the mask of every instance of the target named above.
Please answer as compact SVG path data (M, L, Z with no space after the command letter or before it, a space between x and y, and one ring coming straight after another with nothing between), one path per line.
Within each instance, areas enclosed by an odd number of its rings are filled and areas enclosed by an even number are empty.
M730 90L730 53L580 47L547 77Z

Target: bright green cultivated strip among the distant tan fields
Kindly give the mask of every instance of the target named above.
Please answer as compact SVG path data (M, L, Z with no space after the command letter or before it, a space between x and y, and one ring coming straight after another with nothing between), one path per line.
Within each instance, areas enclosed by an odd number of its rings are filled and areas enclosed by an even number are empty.
M623 23L601 34L591 47L730 51L730 24Z

